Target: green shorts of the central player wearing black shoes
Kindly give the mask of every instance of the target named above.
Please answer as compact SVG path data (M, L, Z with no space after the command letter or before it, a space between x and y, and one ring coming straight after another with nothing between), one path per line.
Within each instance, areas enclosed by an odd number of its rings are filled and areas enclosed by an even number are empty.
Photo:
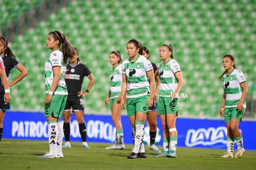
M127 98L127 114L128 116L134 116L137 112L148 113L148 98L149 94L140 96L137 98Z

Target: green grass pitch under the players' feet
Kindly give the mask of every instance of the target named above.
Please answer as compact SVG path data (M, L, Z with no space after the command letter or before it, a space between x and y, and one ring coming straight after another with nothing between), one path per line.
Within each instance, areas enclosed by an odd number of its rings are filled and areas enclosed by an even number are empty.
M220 158L225 150L177 148L177 158L153 158L146 148L146 159L127 159L125 150L106 150L109 143L80 142L63 148L64 158L38 158L49 150L47 141L9 140L0 142L0 169L256 169L256 151L246 150L242 158ZM161 148L161 147L160 147Z

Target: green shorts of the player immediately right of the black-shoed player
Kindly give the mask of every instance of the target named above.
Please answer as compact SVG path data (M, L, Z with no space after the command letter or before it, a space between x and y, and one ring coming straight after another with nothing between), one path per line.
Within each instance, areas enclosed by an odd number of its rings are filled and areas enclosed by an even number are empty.
M179 109L179 98L159 97L158 99L158 115L176 114Z

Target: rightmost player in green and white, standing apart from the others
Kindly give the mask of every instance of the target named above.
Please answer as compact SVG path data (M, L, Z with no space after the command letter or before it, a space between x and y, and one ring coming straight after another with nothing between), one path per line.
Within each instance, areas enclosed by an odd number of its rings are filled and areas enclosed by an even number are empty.
M240 158L245 152L242 133L238 129L239 122L244 116L246 103L245 96L247 95L247 83L244 74L236 69L235 59L231 55L223 57L224 73L220 79L223 80L223 98L219 115L224 116L227 134L227 149L228 152L221 156L222 158L233 158L234 141L236 140L237 152L235 158Z

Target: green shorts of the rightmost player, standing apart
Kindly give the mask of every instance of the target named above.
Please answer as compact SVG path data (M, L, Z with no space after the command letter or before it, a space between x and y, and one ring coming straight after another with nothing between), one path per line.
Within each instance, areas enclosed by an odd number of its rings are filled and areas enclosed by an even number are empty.
M224 120L230 122L231 119L241 120L244 116L246 108L242 109L241 113L238 113L236 108L224 108Z

